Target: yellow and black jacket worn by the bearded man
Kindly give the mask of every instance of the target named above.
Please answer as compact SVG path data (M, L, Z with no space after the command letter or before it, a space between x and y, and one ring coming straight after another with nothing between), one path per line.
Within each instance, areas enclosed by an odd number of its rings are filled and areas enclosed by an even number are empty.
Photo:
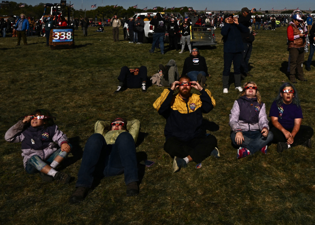
M165 89L153 104L158 114L166 119L165 138L192 140L201 134L202 113L215 107L215 99L208 89L202 89L201 95L191 94L186 101L179 97L179 93L173 94L170 88Z

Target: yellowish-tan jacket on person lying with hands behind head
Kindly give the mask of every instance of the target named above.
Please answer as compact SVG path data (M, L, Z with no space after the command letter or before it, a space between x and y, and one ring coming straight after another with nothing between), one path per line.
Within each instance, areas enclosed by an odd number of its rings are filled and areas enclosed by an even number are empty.
M115 144L115 141L120 133L126 132L126 130L111 130L108 131L108 127L111 125L110 121L101 121L98 120L94 126L94 132L100 133L104 136L107 145ZM134 138L135 143L137 142L138 134L140 128L140 121L139 120L132 120L128 121L127 123L127 130ZM108 132L107 132L108 131Z

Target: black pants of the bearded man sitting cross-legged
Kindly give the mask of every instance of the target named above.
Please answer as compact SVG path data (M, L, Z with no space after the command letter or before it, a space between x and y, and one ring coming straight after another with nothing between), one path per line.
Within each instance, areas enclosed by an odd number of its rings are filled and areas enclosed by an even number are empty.
M217 145L217 139L213 135L199 135L190 141L184 142L178 138L170 137L164 143L164 151L174 158L175 156L185 158L192 157L196 163L201 163L209 157L211 151Z

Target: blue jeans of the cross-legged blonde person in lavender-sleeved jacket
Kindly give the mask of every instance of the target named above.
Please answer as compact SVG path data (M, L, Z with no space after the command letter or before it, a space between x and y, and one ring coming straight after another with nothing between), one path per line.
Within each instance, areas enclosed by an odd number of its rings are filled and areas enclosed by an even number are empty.
M273 133L269 131L268 136L264 137L260 131L243 131L244 141L242 142L242 145L236 144L235 136L236 133L232 132L231 140L234 145L247 148L251 154L254 154L256 151L259 151L262 147L272 141Z

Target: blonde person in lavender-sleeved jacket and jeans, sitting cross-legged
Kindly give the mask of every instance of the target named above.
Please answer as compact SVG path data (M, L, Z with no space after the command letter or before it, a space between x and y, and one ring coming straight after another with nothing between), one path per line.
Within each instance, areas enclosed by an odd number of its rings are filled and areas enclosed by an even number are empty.
M232 129L231 140L239 146L237 159L261 151L267 154L267 144L273 134L268 132L266 106L261 102L255 82L243 86L241 98L234 102L229 125Z

